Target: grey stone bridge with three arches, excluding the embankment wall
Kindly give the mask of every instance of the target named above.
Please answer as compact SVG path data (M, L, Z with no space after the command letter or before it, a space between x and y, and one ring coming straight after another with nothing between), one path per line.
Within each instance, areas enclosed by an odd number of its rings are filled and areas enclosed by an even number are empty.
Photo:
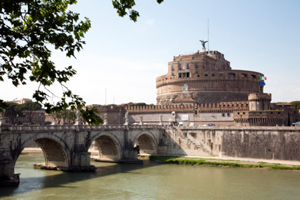
M36 142L43 150L45 168L89 171L89 147L99 149L99 160L137 161L141 153L156 154L165 130L159 125L0 126L0 181L15 177L14 166L23 149Z

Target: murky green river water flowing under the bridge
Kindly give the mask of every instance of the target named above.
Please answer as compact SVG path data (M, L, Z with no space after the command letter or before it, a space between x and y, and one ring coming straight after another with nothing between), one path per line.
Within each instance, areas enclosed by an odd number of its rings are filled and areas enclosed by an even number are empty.
M94 173L33 169L43 156L21 155L19 187L0 188L1 200L22 199L300 199L300 173L156 164L92 163Z

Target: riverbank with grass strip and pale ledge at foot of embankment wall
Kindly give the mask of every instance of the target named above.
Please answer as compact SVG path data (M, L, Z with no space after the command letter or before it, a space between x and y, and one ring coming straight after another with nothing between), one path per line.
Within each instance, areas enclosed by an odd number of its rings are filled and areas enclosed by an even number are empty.
M280 160L260 160L245 158L211 158L211 157L171 157L171 156L149 156L150 160L159 163L204 165L216 167L256 168L273 170L295 170L300 172L300 162Z

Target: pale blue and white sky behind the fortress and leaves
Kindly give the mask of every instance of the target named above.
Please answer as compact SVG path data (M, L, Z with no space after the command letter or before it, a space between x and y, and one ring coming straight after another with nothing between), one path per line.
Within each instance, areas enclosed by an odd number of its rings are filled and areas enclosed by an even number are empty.
M91 20L86 45L76 59L52 57L59 68L75 68L67 86L88 105L156 104L156 77L173 56L201 50L208 21L209 49L223 53L232 69L263 73L272 102L300 100L299 0L136 0L135 23L119 17L110 0L78 0L70 9ZM32 98L37 88L5 79L0 99ZM50 90L61 96L59 85Z

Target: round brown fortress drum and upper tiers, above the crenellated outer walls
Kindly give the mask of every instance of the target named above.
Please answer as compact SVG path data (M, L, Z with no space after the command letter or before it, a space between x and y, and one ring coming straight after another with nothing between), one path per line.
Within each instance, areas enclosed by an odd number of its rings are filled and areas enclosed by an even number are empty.
M174 56L168 73L156 78L157 104L247 101L250 93L263 93L260 76L232 70L218 51Z

